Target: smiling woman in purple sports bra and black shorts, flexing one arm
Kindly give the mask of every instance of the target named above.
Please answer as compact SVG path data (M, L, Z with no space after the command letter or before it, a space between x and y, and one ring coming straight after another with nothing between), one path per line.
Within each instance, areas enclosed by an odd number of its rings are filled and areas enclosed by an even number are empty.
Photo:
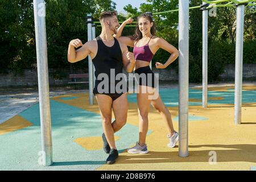
M132 148L129 148L127 152L131 154L147 154L146 145L146 135L148 131L148 111L150 109L150 104L155 107L156 110L162 115L164 122L167 125L169 138L168 147L175 147L177 140L179 138L178 133L174 130L172 125L171 113L167 107L163 104L160 96L158 95L155 99L150 99L150 94L157 92L156 85L154 85L154 73L150 69L150 61L155 55L159 48L162 48L171 53L171 56L166 61L165 64L156 62L155 67L158 69L166 68L170 65L178 56L179 51L166 42L166 40L155 36L155 24L152 17L148 14L141 14L137 19L137 28L135 34L131 37L121 36L122 30L127 23L131 23L133 19L127 19L118 28L117 35L114 35L118 40L127 46L134 47L133 52L136 59L135 73L138 75L146 74L146 82L142 80L137 80L139 82L138 93L137 93L137 103L138 103L138 113L139 113L139 141ZM151 77L147 75L151 74ZM144 75L144 74L143 74ZM145 90L146 92L141 92Z

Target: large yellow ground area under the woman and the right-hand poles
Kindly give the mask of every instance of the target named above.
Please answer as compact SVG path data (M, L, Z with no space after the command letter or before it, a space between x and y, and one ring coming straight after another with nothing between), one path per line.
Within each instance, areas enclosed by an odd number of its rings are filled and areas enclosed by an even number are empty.
M168 109L174 118L177 107ZM115 164L103 165L97 170L250 170L256 166L256 107L242 108L241 125L234 125L233 107L190 106L189 114L209 120L189 122L188 158L180 158L177 147L167 147L166 125L160 114L151 110L152 134L147 136L149 154L132 155L125 151L119 154ZM128 121L131 121L129 117ZM136 122L138 126L138 120ZM178 131L177 122L174 128ZM209 163L210 151L217 154L216 165Z

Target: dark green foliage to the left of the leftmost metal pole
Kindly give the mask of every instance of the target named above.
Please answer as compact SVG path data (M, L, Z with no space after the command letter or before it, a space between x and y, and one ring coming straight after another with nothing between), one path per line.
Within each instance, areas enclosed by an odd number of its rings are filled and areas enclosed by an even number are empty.
M0 1L1 46L0 73L9 69L19 71L30 66L33 48L28 42L33 22L31 1Z

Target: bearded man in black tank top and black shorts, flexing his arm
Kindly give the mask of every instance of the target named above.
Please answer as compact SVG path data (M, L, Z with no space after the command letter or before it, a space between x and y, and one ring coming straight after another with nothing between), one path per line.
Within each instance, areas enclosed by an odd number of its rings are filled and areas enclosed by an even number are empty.
M118 93L114 90L112 92L111 88L117 85L117 80L113 80L113 77L110 80L110 75L113 71L115 76L118 73L122 73L122 68L125 68L129 73L133 72L135 59L133 53L128 51L127 46L121 44L113 37L114 34L117 34L117 28L119 27L117 13L115 11L104 11L100 15L100 23L102 31L96 39L90 40L85 44L82 44L79 39L71 40L68 46L68 61L75 63L85 59L88 55L92 58L96 75L93 94L96 96L102 117L104 151L109 154L106 163L113 164L115 159L118 158L114 133L120 130L126 123L128 103L127 91ZM80 46L82 47L76 51L75 48ZM109 77L107 79L108 85L104 85L104 89L100 87L101 74L108 75ZM112 109L115 117L113 123Z

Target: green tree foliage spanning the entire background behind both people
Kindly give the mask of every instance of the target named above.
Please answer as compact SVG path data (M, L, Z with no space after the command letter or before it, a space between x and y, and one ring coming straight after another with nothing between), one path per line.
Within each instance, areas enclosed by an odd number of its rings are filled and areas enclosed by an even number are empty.
M190 0L189 6L198 6L201 1ZM119 14L123 21L129 17L135 20L145 12L160 12L178 9L178 0L147 0L139 9L127 5L127 12ZM102 11L115 10L112 0L46 0L46 26L48 46L48 66L56 71L51 73L55 78L65 77L63 68L86 69L87 59L76 64L67 61L68 43L79 38L87 41L86 14L92 14L94 20ZM189 81L201 82L202 67L202 13L199 9L189 10ZM178 12L153 16L156 23L156 35L167 40L178 48ZM34 10L32 0L0 0L0 73L11 70L21 73L23 68L34 68L36 65ZM134 34L135 27L126 27L124 36ZM96 28L96 35L101 27ZM256 7L245 7L243 63L256 63ZM208 16L208 78L216 81L225 64L234 64L236 42L236 8L217 8L217 16ZM131 51L131 49L130 49ZM160 49L152 65L156 61L165 63L170 53ZM176 60L169 68L178 69Z

